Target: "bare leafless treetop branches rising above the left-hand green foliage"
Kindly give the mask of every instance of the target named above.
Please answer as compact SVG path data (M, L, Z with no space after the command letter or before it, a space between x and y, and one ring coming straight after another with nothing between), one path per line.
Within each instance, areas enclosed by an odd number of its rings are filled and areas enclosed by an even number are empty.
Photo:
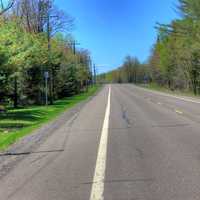
M11 14L20 18L20 23L27 31L43 33L50 28L50 36L58 32L70 32L74 19L56 8L52 0L16 0Z

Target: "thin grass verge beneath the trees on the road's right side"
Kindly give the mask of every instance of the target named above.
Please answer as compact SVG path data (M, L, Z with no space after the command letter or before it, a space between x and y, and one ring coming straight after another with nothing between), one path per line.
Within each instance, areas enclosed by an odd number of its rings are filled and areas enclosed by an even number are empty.
M170 90L169 88L160 86L156 83L150 83L147 85L140 85L140 86L150 89L150 90L165 92L165 93L169 93L169 94L173 94L173 95L196 97L196 98L200 97L199 95L195 95L192 91L189 91L189 90Z

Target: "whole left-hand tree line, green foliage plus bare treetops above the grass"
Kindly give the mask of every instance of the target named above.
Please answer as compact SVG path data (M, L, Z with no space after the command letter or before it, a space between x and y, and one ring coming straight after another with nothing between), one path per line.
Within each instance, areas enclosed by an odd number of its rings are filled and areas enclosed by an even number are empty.
M73 27L52 0L0 0L0 104L42 105L46 94L53 104L87 89L90 53L76 48Z

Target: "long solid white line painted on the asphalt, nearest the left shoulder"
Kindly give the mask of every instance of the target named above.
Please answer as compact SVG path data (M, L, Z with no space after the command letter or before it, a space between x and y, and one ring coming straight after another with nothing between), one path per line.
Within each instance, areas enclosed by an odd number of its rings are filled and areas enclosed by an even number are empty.
M110 99L111 99L111 87L109 86L108 102L101 132L101 139L98 149L96 168L93 177L93 184L90 194L90 200L103 200L104 196L104 182L106 171L106 157L107 157L107 143L108 143L108 129L110 118Z

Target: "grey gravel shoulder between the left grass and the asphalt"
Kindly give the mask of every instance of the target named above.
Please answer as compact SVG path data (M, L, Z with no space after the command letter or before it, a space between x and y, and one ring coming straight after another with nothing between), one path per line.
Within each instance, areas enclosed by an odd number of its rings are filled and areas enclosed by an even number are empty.
M41 128L33 131L28 136L25 136L15 144L11 145L6 151L0 153L0 179L6 176L21 160L27 155L38 149L48 137L50 137L57 129L65 123L69 126L79 115L81 109L91 101L102 89L87 100L70 108L55 120L43 125Z

